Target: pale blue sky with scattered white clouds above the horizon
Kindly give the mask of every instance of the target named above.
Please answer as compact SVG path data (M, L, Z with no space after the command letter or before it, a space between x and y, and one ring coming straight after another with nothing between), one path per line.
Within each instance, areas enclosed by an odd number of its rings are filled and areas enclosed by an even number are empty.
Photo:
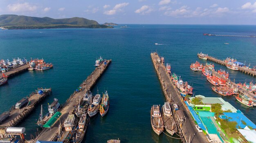
M251 24L256 0L0 0L0 15L96 20L100 24Z

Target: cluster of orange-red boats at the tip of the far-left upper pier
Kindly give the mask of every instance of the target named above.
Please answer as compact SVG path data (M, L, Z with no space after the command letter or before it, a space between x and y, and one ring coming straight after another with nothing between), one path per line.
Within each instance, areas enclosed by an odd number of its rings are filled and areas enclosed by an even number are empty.
M28 70L48 70L53 67L52 63L45 63L44 59L33 59L29 61Z

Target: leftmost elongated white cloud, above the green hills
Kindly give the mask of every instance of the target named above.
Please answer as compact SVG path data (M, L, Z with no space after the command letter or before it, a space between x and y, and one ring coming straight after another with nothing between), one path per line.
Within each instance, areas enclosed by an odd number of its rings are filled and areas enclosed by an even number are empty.
M31 5L28 2L8 4L7 8L12 12L35 11L37 9L35 5Z

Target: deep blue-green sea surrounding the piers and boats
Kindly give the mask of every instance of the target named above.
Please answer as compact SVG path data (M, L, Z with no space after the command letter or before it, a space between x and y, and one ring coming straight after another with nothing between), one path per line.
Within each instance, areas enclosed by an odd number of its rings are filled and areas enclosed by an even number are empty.
M121 28L124 25L127 27ZM122 143L179 143L166 134L157 136L151 129L151 106L162 106L166 100L150 58L150 53L156 51L171 64L172 73L193 86L194 95L221 97L256 123L255 108L240 104L234 96L222 97L213 92L206 77L189 68L196 61L209 62L197 57L200 52L256 66L256 38L203 33L256 35L256 26L120 24L113 29L0 30L0 59L43 58L54 65L49 70L26 71L10 77L7 84L0 86L0 112L42 87L52 88L52 95L41 103L46 113L47 103L54 98L64 103L92 73L95 60L101 56L112 59L112 63L92 92L95 95L108 90L110 109L106 116L90 119L83 143L106 143L108 139L120 139ZM216 70L228 71L236 83L256 82L255 77L213 64ZM40 105L18 125L26 128L26 139L31 134L35 136L36 128L40 130L36 125L39 113Z

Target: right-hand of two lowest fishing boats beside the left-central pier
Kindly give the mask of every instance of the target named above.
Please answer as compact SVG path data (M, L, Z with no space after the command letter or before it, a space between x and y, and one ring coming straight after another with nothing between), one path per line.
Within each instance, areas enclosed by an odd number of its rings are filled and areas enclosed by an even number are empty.
M83 141L87 126L88 126L87 115L83 114L80 117L80 120L78 123L78 130L75 130L75 133L73 134L72 141L74 143L81 143L81 141Z

